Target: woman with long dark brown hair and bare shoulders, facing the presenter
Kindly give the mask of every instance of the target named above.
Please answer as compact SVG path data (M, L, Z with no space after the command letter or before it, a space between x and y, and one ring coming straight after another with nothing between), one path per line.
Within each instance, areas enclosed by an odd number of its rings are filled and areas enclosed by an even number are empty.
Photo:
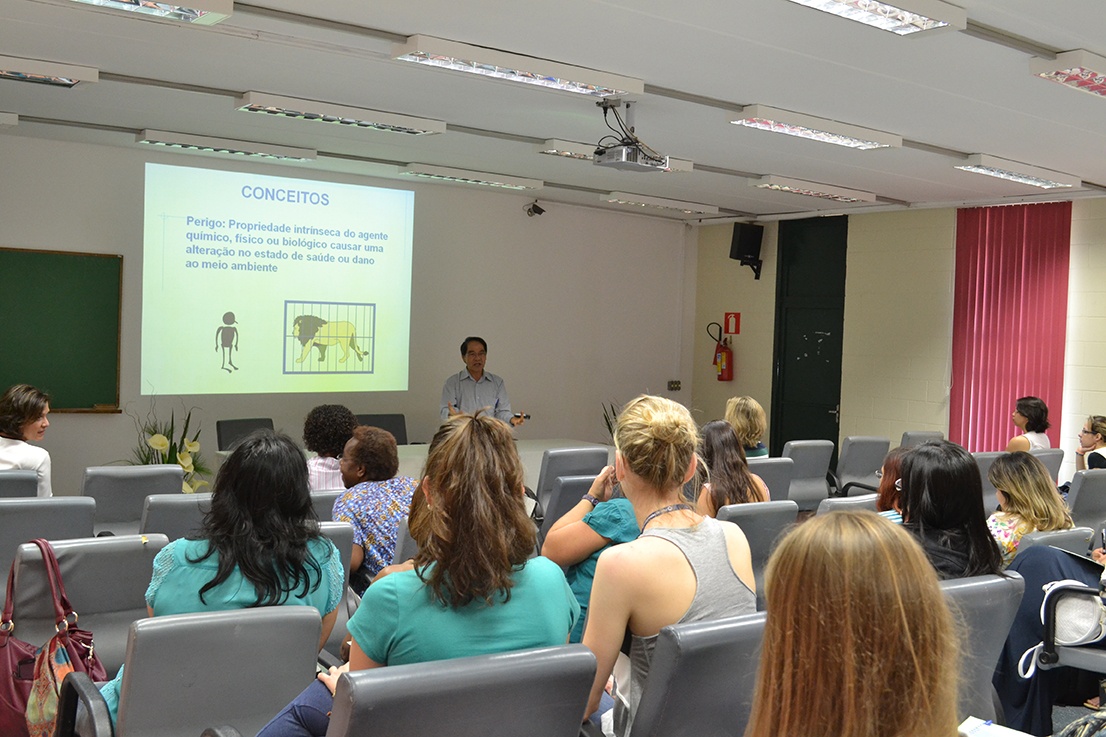
M700 430L699 457L706 466L707 482L699 492L700 515L713 517L727 505L768 501L763 479L749 470L745 451L730 423L716 419Z

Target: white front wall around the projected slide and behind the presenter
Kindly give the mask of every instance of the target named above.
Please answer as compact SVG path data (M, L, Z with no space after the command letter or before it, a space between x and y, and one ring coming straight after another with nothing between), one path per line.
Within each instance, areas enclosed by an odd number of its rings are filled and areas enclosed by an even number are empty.
M695 238L682 224L553 204L528 218L523 195L0 136L0 247L124 256L124 407L144 414L149 406L138 366L147 160L416 193L408 391L157 397L159 415L198 408L207 450L215 447L218 418L269 416L299 437L303 416L323 402L358 413L403 412L409 437L427 440L438 425L441 383L462 369L458 347L468 334L488 340L488 370L505 378L515 409L533 416L517 432L520 438L605 440L602 403L645 391L667 394L668 380L685 378L685 332L692 323L686 305L695 302L686 268L690 259L693 269ZM207 308L180 307L197 314ZM213 320L218 324L218 315ZM137 440L126 415L51 417L43 445L53 458L55 494L76 494L86 466L124 459Z

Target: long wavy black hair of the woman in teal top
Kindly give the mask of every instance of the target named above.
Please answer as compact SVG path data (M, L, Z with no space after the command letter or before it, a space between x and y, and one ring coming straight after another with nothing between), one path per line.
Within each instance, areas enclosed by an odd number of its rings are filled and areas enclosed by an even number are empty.
M303 451L286 435L251 433L219 468L204 516L200 539L208 550L192 562L217 553L219 568L200 588L200 601L236 568L253 584L255 606L306 595L323 579L324 561L307 551L319 534Z

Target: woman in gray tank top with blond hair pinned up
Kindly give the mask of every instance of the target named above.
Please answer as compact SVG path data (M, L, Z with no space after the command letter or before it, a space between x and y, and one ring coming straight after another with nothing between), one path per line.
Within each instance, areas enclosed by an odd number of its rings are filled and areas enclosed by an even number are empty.
M698 442L690 413L670 399L639 396L618 415L615 475L641 537L599 557L583 642L598 661L586 717L599 705L626 630L633 635L629 683L615 691L619 736L629 733L661 627L757 610L745 536L682 502Z

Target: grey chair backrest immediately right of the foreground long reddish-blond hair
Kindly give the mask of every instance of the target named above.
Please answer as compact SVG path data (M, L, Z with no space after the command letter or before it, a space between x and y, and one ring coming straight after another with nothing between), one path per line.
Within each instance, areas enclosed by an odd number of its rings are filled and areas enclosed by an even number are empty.
M960 647L960 718L994 719L991 676L1022 601L1025 580L1008 571L1005 575L941 581L941 589L967 627Z

